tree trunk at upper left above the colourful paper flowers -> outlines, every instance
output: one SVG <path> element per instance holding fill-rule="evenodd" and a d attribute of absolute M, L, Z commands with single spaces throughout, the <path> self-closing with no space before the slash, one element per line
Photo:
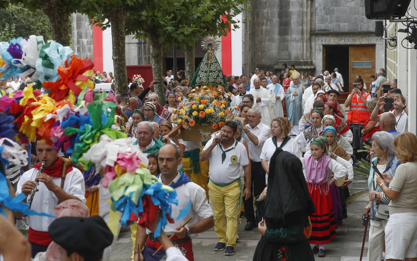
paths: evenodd
<path fill-rule="evenodd" d="M 60 0 L 40 1 L 38 6 L 48 16 L 52 29 L 52 39 L 64 46 L 70 46 L 70 14 L 63 12 L 66 4 Z"/>

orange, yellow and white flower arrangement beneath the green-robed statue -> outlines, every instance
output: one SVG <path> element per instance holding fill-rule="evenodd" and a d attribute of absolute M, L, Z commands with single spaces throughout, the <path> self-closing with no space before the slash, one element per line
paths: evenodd
<path fill-rule="evenodd" d="M 206 86 L 196 87 L 181 100 L 178 108 L 173 109 L 174 122 L 187 130 L 196 124 L 208 124 L 213 129 L 223 127 L 232 115 L 229 110 L 232 94 L 222 94 L 221 90 L 209 92 Z"/>

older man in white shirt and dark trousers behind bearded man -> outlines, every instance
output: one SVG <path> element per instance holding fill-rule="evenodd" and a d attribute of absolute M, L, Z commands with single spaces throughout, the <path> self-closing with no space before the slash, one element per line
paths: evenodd
<path fill-rule="evenodd" d="M 259 196 L 265 188 L 265 171 L 261 164 L 262 147 L 267 138 L 271 136 L 270 128 L 261 122 L 261 110 L 259 108 L 250 108 L 248 110 L 247 124 L 243 130 L 243 138 L 248 143 L 249 158 L 251 159 L 251 194 L 247 200 L 244 199 L 246 226 L 245 230 L 252 230 L 257 227 L 257 221 L 254 211 L 253 197 Z M 253 192 L 253 196 L 252 196 Z M 259 222 L 259 220 L 258 220 Z"/>

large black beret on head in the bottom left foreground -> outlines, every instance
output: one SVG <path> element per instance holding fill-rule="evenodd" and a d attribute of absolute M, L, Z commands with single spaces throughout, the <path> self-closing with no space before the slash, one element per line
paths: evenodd
<path fill-rule="evenodd" d="M 58 218 L 50 224 L 48 232 L 68 254 L 75 252 L 90 260 L 100 259 L 104 248 L 113 241 L 113 233 L 100 216 Z"/>

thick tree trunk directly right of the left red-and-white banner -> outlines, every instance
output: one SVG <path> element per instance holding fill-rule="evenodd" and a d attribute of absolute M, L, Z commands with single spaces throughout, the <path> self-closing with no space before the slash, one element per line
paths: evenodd
<path fill-rule="evenodd" d="M 126 70 L 126 28 L 125 21 L 127 10 L 124 8 L 112 8 L 104 16 L 111 23 L 111 39 L 113 51 L 114 78 L 116 80 L 116 93 L 127 92 L 127 70 Z"/>

